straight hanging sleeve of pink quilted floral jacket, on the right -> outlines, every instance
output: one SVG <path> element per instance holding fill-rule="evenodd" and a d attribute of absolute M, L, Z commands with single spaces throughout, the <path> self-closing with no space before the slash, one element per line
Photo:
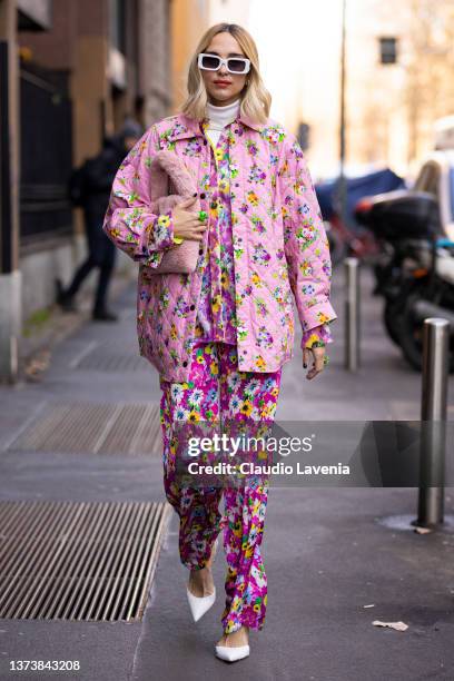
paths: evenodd
<path fill-rule="evenodd" d="M 337 318 L 329 302 L 329 245 L 314 184 L 296 137 L 285 134 L 277 169 L 288 278 L 303 334 Z M 305 345 L 305 334 L 302 347 Z"/>

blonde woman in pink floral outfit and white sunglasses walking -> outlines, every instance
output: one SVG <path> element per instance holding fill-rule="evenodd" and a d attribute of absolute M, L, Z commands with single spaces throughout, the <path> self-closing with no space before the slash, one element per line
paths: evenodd
<path fill-rule="evenodd" d="M 224 490 L 180 485 L 176 424 L 273 422 L 282 367 L 294 352 L 292 294 L 309 379 L 327 363 L 336 314 L 314 185 L 295 136 L 268 117 L 272 98 L 250 34 L 237 24 L 211 27 L 187 85 L 181 110 L 155 122 L 120 166 L 103 229 L 139 263 L 139 346 L 159 372 L 164 483 L 180 519 L 189 606 L 198 620 L 216 600 L 211 561 L 223 532 L 226 603 L 215 652 L 234 661 L 249 654 L 249 629 L 265 621 L 268 486 L 254 478 Z M 159 214 L 150 166 L 161 150 L 189 172 L 197 196 Z M 199 244 L 195 272 L 159 274 L 165 255 L 187 239 Z"/>

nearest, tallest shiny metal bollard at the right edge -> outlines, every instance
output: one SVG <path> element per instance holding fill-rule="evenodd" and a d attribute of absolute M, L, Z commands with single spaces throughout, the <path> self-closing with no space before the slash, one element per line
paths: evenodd
<path fill-rule="evenodd" d="M 423 334 L 420 495 L 413 524 L 433 527 L 443 523 L 444 513 L 450 323 L 427 317 Z"/>

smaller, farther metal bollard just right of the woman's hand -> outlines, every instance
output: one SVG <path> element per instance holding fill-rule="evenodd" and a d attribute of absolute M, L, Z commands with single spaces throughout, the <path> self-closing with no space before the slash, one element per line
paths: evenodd
<path fill-rule="evenodd" d="M 345 368 L 356 372 L 359 367 L 359 261 L 345 258 Z"/>

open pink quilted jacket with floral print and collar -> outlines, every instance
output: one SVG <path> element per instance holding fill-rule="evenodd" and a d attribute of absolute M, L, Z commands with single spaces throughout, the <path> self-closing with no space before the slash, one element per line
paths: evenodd
<path fill-rule="evenodd" d="M 292 294 L 303 332 L 337 318 L 329 303 L 328 240 L 295 136 L 270 118 L 258 124 L 241 114 L 227 135 L 239 371 L 275 372 L 294 352 Z M 150 208 L 156 196 L 149 168 L 159 149 L 178 155 L 209 215 L 211 149 L 201 122 L 177 114 L 154 124 L 122 161 L 103 230 L 139 263 L 140 354 L 162 378 L 186 382 L 208 229 L 195 273 L 152 274 L 165 250 L 178 248 L 171 210 L 159 216 Z"/>

